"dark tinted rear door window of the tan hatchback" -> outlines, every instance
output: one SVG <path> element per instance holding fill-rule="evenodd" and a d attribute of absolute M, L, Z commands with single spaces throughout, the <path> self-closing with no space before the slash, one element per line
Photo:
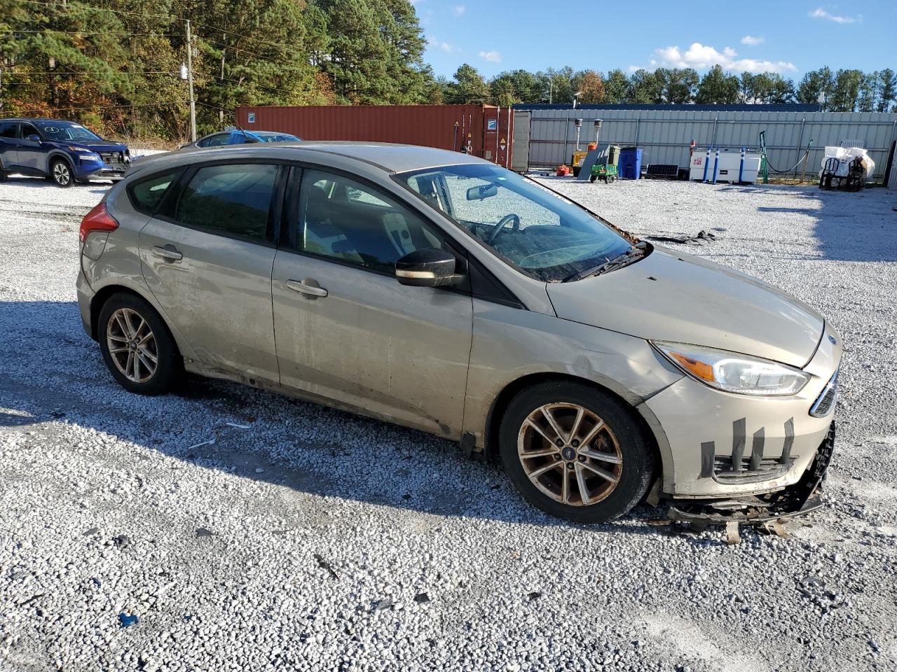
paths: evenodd
<path fill-rule="evenodd" d="M 264 242 L 277 169 L 264 163 L 199 168 L 180 195 L 175 220 L 188 227 Z"/>

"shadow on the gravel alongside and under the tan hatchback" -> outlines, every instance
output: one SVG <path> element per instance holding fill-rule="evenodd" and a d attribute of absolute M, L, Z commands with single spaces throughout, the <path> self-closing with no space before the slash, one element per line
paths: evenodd
<path fill-rule="evenodd" d="M 188 376 L 177 394 L 132 394 L 109 375 L 74 302 L 0 306 L 0 428 L 89 427 L 205 469 L 419 513 L 651 535 L 668 524 L 647 505 L 606 525 L 561 521 L 455 442 L 237 383 Z"/>

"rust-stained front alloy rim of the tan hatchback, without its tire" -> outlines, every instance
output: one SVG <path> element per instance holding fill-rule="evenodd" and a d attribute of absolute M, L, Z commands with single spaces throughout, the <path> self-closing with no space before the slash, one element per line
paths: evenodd
<path fill-rule="evenodd" d="M 533 485 L 561 504 L 597 504 L 614 492 L 623 473 L 613 430 L 578 404 L 535 409 L 520 426 L 517 447 Z"/>

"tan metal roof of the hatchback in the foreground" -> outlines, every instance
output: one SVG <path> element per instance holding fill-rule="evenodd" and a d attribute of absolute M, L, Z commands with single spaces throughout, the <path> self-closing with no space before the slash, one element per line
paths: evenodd
<path fill-rule="evenodd" d="M 478 163 L 492 166 L 490 161 L 478 159 L 459 151 L 438 150 L 420 145 L 393 144 L 390 142 L 346 142 L 305 140 L 300 142 L 248 143 L 215 148 L 196 148 L 157 154 L 143 159 L 145 168 L 167 168 L 182 165 L 185 157 L 190 162 L 204 159 L 309 159 L 309 154 L 321 154 L 363 161 L 390 173 L 404 173 L 409 170 L 455 166 L 457 164 Z M 324 157 L 322 156 L 322 159 Z M 139 166 L 140 164 L 136 164 Z M 135 168 L 136 168 L 135 166 Z"/>

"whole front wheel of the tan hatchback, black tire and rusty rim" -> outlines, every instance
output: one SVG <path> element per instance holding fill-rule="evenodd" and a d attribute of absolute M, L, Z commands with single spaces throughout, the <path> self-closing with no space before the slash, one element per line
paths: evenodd
<path fill-rule="evenodd" d="M 545 407 L 564 434 L 561 448 L 546 440 L 556 439 L 558 434 L 544 415 Z M 580 408 L 583 415 L 575 436 L 586 443 L 569 435 Z M 527 419 L 535 421 L 542 433 Z M 604 425 L 598 425 L 598 420 Z M 552 449 L 556 449 L 552 455 L 526 460 L 518 454 L 520 450 L 546 453 Z M 511 482 L 530 504 L 580 523 L 613 521 L 629 512 L 648 492 L 655 467 L 649 439 L 631 409 L 610 393 L 585 383 L 538 383 L 518 392 L 501 418 L 499 450 Z M 598 454 L 603 457 L 590 457 Z M 539 470 L 543 473 L 536 476 Z M 596 470 L 605 473 L 598 475 Z"/>

